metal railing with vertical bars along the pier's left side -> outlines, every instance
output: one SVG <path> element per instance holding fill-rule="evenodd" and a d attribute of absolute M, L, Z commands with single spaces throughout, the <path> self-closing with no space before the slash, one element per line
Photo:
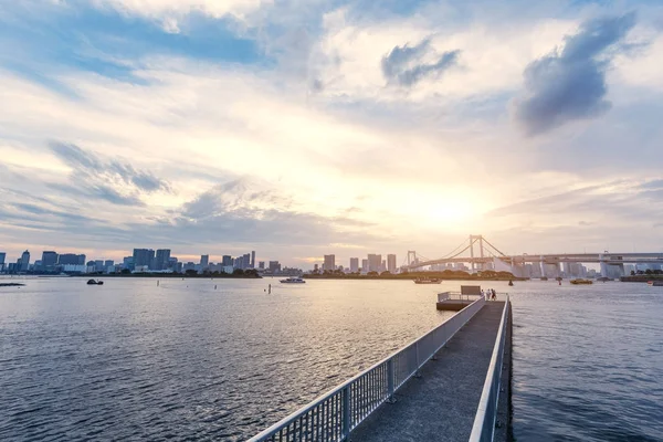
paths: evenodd
<path fill-rule="evenodd" d="M 480 298 L 408 346 L 304 406 L 249 442 L 340 442 L 419 372 L 484 305 Z"/>

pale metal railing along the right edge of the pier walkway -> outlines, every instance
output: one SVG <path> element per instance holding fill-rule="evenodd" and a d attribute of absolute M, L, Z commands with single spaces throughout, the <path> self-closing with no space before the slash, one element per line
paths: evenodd
<path fill-rule="evenodd" d="M 508 323 L 509 299 L 506 295 L 502 320 L 491 357 L 491 365 L 484 382 L 484 388 L 478 401 L 470 442 L 493 441 L 495 434 L 495 420 L 497 418 L 497 406 L 499 401 L 499 387 L 502 381 L 502 366 L 504 361 L 504 347 L 506 343 L 506 325 Z"/>

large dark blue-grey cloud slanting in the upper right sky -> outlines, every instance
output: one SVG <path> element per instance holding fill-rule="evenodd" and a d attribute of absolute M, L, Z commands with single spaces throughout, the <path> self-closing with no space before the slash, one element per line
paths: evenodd
<path fill-rule="evenodd" d="M 565 39 L 561 52 L 532 62 L 524 72 L 525 94 L 514 101 L 515 118 L 525 133 L 541 134 L 610 109 L 606 71 L 634 25 L 634 13 L 590 20 Z"/>

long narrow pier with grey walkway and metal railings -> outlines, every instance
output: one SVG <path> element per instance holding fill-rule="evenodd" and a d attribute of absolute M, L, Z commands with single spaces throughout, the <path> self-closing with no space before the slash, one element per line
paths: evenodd
<path fill-rule="evenodd" d="M 509 441 L 508 295 L 465 301 L 431 332 L 249 442 Z"/>

